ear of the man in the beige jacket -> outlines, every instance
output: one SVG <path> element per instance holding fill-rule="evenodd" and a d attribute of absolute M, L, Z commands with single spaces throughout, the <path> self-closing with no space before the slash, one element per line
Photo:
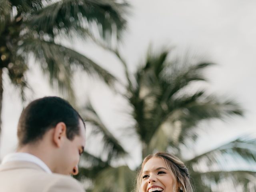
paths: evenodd
<path fill-rule="evenodd" d="M 64 122 L 59 122 L 54 127 L 53 142 L 57 147 L 60 147 L 62 145 L 62 141 L 66 138 L 66 129 L 66 124 Z"/>

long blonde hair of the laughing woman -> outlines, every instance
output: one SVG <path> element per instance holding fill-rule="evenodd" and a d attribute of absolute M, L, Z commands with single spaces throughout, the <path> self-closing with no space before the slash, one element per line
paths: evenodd
<path fill-rule="evenodd" d="M 190 184 L 190 176 L 188 174 L 188 169 L 184 165 L 182 161 L 180 161 L 176 156 L 166 153 L 166 152 L 158 152 L 155 154 L 150 154 L 144 158 L 141 166 L 140 172 L 137 175 L 137 184 L 136 184 L 136 192 L 141 192 L 140 186 L 142 183 L 142 171 L 146 162 L 152 157 L 158 157 L 164 160 L 169 171 L 173 174 L 174 177 L 174 186 L 173 191 L 175 192 L 176 185 L 178 184 L 178 192 L 193 192 L 192 186 Z"/>

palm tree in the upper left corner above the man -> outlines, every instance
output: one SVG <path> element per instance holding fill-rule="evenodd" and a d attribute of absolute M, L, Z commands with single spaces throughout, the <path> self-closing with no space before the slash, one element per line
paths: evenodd
<path fill-rule="evenodd" d="M 1 0 L 0 111 L 4 68 L 24 100 L 29 58 L 35 58 L 50 84 L 68 98 L 74 98 L 72 75 L 76 70 L 98 75 L 111 84 L 114 76 L 60 40 L 92 36 L 110 44 L 120 39 L 126 28 L 127 7 L 115 0 Z"/>

